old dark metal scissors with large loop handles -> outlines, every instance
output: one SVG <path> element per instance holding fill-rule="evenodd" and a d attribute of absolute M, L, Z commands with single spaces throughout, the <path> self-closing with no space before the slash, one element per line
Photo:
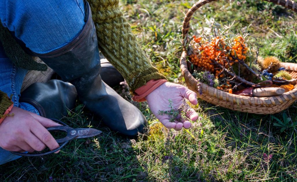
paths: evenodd
<path fill-rule="evenodd" d="M 69 141 L 73 139 L 83 139 L 83 138 L 89 138 L 92 136 L 97 136 L 102 133 L 100 130 L 96 130 L 94 128 L 72 128 L 66 125 L 66 123 L 58 120 L 58 119 L 51 119 L 57 123 L 60 123 L 64 126 L 53 126 L 53 127 L 48 127 L 46 128 L 48 131 L 64 131 L 67 133 L 67 136 L 61 139 L 56 139 L 56 141 L 61 144 L 63 143 L 59 148 L 56 148 L 55 150 L 45 152 L 45 153 L 21 153 L 21 152 L 11 152 L 15 155 L 21 155 L 21 156 L 26 156 L 26 157 L 36 157 L 36 156 L 43 156 L 43 155 L 48 155 L 51 153 L 55 153 L 56 151 L 60 150 L 63 148 Z"/>

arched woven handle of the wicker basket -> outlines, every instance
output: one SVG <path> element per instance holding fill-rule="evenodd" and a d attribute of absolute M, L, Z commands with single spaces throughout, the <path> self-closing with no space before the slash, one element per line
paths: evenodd
<path fill-rule="evenodd" d="M 185 15 L 184 21 L 183 21 L 183 28 L 182 30 L 182 43 L 184 46 L 184 50 L 186 50 L 185 47 L 185 42 L 188 41 L 188 33 L 189 33 L 189 29 L 190 29 L 190 19 L 191 16 L 194 14 L 194 12 L 196 10 L 198 10 L 201 6 L 211 2 L 211 1 L 217 1 L 217 0 L 199 0 L 197 3 L 195 3 L 187 12 L 187 14 Z M 292 0 L 265 0 L 268 2 L 273 2 L 274 4 L 279 4 L 283 7 L 286 7 L 288 9 L 291 9 L 293 11 L 295 11 L 297 13 L 297 9 L 295 9 L 296 3 Z M 186 37 L 186 38 L 185 38 Z"/>

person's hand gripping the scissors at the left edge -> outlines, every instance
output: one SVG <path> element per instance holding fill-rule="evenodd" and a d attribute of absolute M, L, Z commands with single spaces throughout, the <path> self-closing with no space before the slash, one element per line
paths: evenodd
<path fill-rule="evenodd" d="M 46 127 L 60 124 L 18 107 L 13 107 L 9 114 L 0 124 L 1 148 L 14 152 L 34 152 L 42 151 L 46 146 L 50 150 L 59 147 Z"/>

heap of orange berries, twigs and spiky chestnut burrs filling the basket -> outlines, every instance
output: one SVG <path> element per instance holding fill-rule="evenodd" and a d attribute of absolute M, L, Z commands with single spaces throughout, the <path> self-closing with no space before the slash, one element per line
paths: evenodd
<path fill-rule="evenodd" d="M 193 35 L 188 46 L 189 62 L 191 70 L 194 70 L 192 76 L 202 83 L 229 93 L 235 89 L 259 86 L 266 80 L 271 80 L 276 86 L 297 82 L 297 79 L 290 78 L 290 73 L 285 68 L 280 67 L 276 57 L 266 57 L 263 63 L 263 58 L 258 56 L 259 47 L 257 50 L 250 50 L 243 37 L 230 37 L 216 32 L 212 38 Z M 216 87 L 214 82 L 209 81 L 212 77 L 217 79 L 219 86 Z"/>

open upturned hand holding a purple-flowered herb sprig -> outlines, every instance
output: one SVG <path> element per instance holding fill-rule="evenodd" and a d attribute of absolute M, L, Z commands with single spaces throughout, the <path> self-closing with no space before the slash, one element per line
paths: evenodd
<path fill-rule="evenodd" d="M 188 99 L 192 104 L 197 105 L 197 94 L 188 88 L 178 85 L 175 83 L 166 82 L 152 91 L 149 95 L 146 96 L 146 100 L 149 104 L 149 108 L 152 113 L 159 119 L 159 121 L 167 128 L 174 128 L 175 130 L 181 130 L 184 128 L 190 128 L 191 122 L 170 122 L 168 115 L 159 115 L 158 111 L 169 111 L 171 110 L 169 106 L 168 99 L 171 99 L 173 108 L 178 108 L 182 104 L 182 99 Z M 192 121 L 198 119 L 198 114 L 194 109 L 190 109 L 187 112 L 187 117 Z"/>

